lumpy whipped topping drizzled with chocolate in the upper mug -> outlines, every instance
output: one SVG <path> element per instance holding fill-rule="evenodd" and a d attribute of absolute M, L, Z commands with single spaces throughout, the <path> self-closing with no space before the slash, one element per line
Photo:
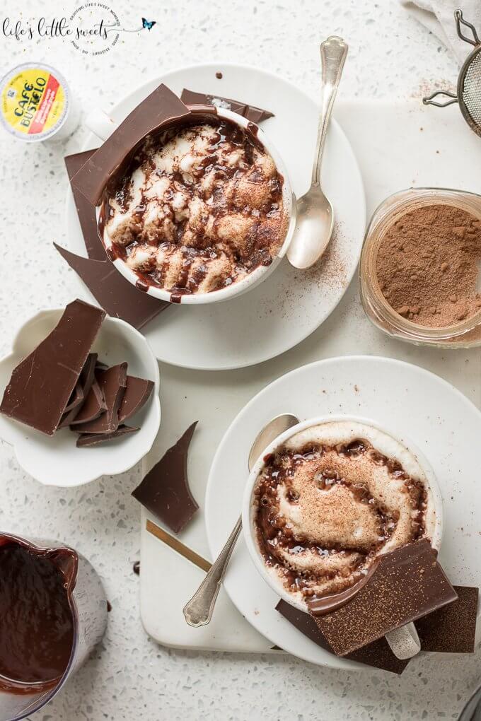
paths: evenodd
<path fill-rule="evenodd" d="M 148 285 L 208 293 L 273 261 L 282 190 L 255 134 L 212 118 L 146 139 L 107 190 L 105 233 Z"/>

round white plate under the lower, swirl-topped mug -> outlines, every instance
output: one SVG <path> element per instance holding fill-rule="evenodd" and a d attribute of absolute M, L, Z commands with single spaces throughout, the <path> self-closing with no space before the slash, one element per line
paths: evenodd
<path fill-rule="evenodd" d="M 481 412 L 433 373 L 375 356 L 329 358 L 298 368 L 263 389 L 239 413 L 208 479 L 205 513 L 213 558 L 239 516 L 252 441 L 270 418 L 285 412 L 300 420 L 340 413 L 363 416 L 407 445 L 412 439 L 433 467 L 444 500 L 441 564 L 451 583 L 481 585 Z M 323 650 L 275 611 L 278 596 L 260 577 L 242 537 L 224 586 L 242 616 L 288 653 L 335 668 L 369 668 Z"/>

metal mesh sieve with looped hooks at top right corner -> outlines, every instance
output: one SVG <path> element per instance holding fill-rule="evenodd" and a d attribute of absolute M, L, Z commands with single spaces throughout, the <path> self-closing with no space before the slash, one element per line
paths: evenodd
<path fill-rule="evenodd" d="M 473 45 L 475 50 L 472 51 L 461 68 L 457 93 L 438 90 L 429 97 L 423 98 L 423 103 L 425 105 L 436 105 L 436 107 L 446 107 L 446 105 L 458 102 L 464 120 L 466 120 L 472 131 L 481 136 L 481 40 L 477 35 L 475 26 L 464 20 L 461 10 L 456 10 L 454 17 L 459 37 L 465 43 Z M 469 28 L 472 37 L 464 35 L 464 27 Z M 440 96 L 447 99 L 444 102 L 435 100 L 436 97 Z"/>

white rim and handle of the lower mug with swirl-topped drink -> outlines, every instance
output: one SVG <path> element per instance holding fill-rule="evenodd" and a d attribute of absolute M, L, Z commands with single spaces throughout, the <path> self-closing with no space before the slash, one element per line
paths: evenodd
<path fill-rule="evenodd" d="M 367 420 L 366 418 L 362 417 L 338 415 L 321 416 L 305 420 L 302 423 L 299 423 L 299 425 L 295 425 L 294 428 L 289 428 L 289 430 L 286 430 L 285 433 L 279 435 L 278 438 L 275 438 L 275 441 L 273 441 L 273 443 L 270 443 L 270 445 L 265 448 L 262 456 L 260 457 L 260 459 L 257 460 L 255 466 L 253 466 L 252 471 L 250 472 L 250 476 L 247 480 L 247 484 L 244 490 L 244 498 L 242 501 L 242 531 L 244 533 L 244 539 L 247 545 L 247 549 L 249 550 L 250 557 L 252 558 L 252 561 L 254 562 L 257 571 L 278 596 L 281 596 L 284 601 L 290 603 L 291 606 L 299 609 L 299 611 L 304 612 L 308 610 L 305 601 L 300 601 L 297 598 L 294 598 L 294 596 L 289 593 L 288 590 L 286 590 L 281 579 L 278 578 L 277 575 L 270 574 L 268 572 L 268 568 L 265 565 L 265 560 L 262 557 L 260 549 L 257 546 L 257 541 L 255 539 L 255 506 L 253 504 L 253 494 L 255 482 L 257 481 L 257 477 L 262 469 L 262 466 L 264 465 L 265 456 L 275 453 L 275 451 L 277 451 L 278 448 L 283 446 L 283 444 L 286 443 L 289 438 L 292 438 L 300 431 L 306 430 L 306 428 L 312 428 L 316 425 L 332 423 L 335 421 L 352 421 L 355 423 L 361 423 L 362 425 L 370 426 L 371 428 L 380 430 L 382 431 L 382 433 L 391 436 L 392 438 L 394 438 L 394 440 L 397 441 L 396 435 L 394 433 L 391 433 L 386 428 L 382 428 L 380 425 L 374 423 L 373 421 Z M 401 443 L 400 441 L 397 442 Z M 425 456 L 423 456 L 421 451 L 419 451 L 418 448 L 414 446 L 414 444 L 409 442 L 409 446 L 407 446 L 406 443 L 401 443 L 401 445 L 405 448 L 408 448 L 411 454 L 415 456 L 415 459 L 418 461 L 418 465 L 420 466 L 421 472 L 423 472 L 423 475 L 428 481 L 428 515 L 426 519 L 427 535 L 431 540 L 431 546 L 438 551 L 441 546 L 441 536 L 443 531 L 443 507 L 441 491 L 439 490 L 436 476 L 433 472 L 433 469 L 431 468 L 431 465 L 425 459 Z M 415 655 L 420 650 L 418 633 L 416 632 L 414 624 L 406 624 L 400 629 L 394 629 L 394 631 L 387 634 L 386 639 L 392 649 L 392 652 L 397 656 L 397 658 L 411 658 L 412 655 Z"/>

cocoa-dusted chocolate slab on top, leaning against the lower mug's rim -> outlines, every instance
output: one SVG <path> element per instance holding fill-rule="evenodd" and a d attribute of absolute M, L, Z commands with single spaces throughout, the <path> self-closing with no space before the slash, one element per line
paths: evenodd
<path fill-rule="evenodd" d="M 421 539 L 381 554 L 367 583 L 335 610 L 315 600 L 307 606 L 334 653 L 345 656 L 456 598 L 431 542 Z"/>

